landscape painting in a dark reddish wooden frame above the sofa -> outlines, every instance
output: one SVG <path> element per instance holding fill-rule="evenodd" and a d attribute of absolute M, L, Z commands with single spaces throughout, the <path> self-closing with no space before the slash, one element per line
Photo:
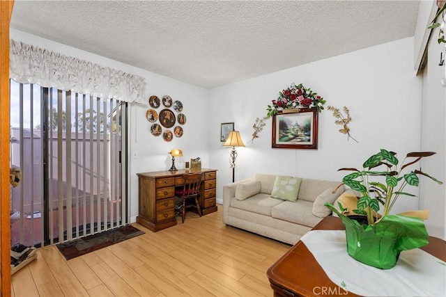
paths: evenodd
<path fill-rule="evenodd" d="M 274 115 L 271 147 L 317 150 L 317 108 L 289 109 Z"/>

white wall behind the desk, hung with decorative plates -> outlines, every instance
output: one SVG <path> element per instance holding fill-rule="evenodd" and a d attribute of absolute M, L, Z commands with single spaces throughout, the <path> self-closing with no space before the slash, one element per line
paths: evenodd
<path fill-rule="evenodd" d="M 146 79 L 146 96 L 157 95 L 162 97 L 169 95 L 174 100 L 183 103 L 183 113 L 186 115 L 186 123 L 183 125 L 184 134 L 167 143 L 162 136 L 153 136 L 150 132 L 151 123 L 146 120 L 148 104 L 132 104 L 130 106 L 130 164 L 128 167 L 130 179 L 130 216 L 136 220 L 138 213 L 138 172 L 167 170 L 171 166 L 171 158 L 167 154 L 171 149 L 183 150 L 183 157 L 176 158 L 177 168 L 183 168 L 184 161 L 197 156 L 201 157 L 203 167 L 209 166 L 208 134 L 210 133 L 209 122 L 209 91 L 188 83 L 176 81 L 163 77 L 153 72 L 141 70 L 103 56 L 91 54 L 74 47 L 62 45 L 51 40 L 40 38 L 36 35 L 10 30 L 10 38 L 22 41 L 30 45 L 37 45 L 45 49 L 75 56 L 86 61 L 91 61 L 105 67 L 112 67 L 131 74 L 137 74 Z M 158 108 L 157 111 L 161 111 Z M 136 154 L 136 156 L 134 156 Z"/>

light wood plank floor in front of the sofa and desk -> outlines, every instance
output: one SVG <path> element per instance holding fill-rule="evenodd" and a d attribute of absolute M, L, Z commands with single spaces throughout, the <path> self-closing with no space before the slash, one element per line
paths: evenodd
<path fill-rule="evenodd" d="M 69 261 L 40 248 L 13 296 L 272 296 L 266 271 L 291 246 L 224 225 L 218 209 L 155 233 L 134 223 L 146 234 Z"/>

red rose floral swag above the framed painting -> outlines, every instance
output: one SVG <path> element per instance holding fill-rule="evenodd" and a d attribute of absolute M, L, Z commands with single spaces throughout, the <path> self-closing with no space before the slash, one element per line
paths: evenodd
<path fill-rule="evenodd" d="M 272 100 L 272 105 L 268 105 L 266 117 L 270 118 L 277 114 L 278 111 L 284 109 L 316 107 L 318 112 L 321 112 L 323 110 L 323 104 L 325 104 L 323 97 L 312 91 L 311 88 L 305 88 L 302 83 L 298 86 L 295 83 L 291 83 L 289 88 L 279 92 L 277 99 Z"/>

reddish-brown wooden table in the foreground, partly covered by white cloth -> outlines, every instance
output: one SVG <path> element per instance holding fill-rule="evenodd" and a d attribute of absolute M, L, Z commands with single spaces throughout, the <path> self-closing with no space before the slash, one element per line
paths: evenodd
<path fill-rule="evenodd" d="M 344 225 L 341 219 L 328 216 L 313 230 L 344 230 Z M 446 241 L 442 239 L 429 236 L 429 244 L 421 249 L 446 261 Z M 322 296 L 323 288 L 339 296 L 357 296 L 334 284 L 302 241 L 273 264 L 266 274 L 276 297 Z"/>

